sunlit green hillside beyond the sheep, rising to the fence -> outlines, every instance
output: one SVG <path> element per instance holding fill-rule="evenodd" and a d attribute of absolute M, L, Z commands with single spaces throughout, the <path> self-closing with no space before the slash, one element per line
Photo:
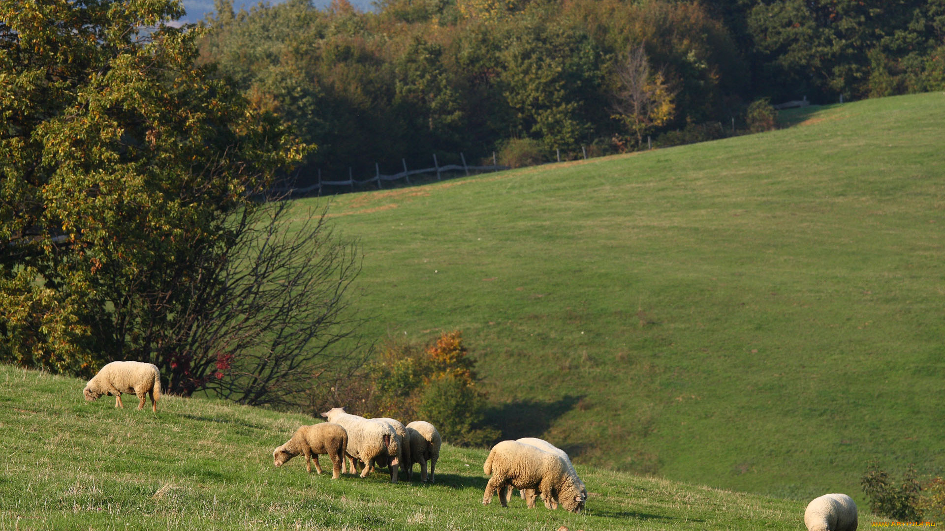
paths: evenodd
<path fill-rule="evenodd" d="M 332 198 L 365 332 L 462 330 L 490 418 L 577 463 L 860 503 L 871 458 L 940 473 L 945 95 L 786 117 Z"/>

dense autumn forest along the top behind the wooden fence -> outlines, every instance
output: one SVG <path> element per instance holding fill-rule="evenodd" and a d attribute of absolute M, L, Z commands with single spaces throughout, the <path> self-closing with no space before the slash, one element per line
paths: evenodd
<path fill-rule="evenodd" d="M 945 0 L 217 0 L 201 60 L 318 146 L 301 179 L 717 135 L 747 107 L 945 86 Z M 708 127 L 712 125 L 713 127 Z M 667 142 L 680 138 L 666 136 Z M 414 163 L 411 163 L 413 165 Z"/>

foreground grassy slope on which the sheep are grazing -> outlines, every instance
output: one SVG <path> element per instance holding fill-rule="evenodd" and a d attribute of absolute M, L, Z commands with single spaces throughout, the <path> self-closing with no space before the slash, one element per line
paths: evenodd
<path fill-rule="evenodd" d="M 83 385 L 0 366 L 0 529 L 803 529 L 803 502 L 580 465 L 585 514 L 483 506 L 486 452 L 449 445 L 435 485 L 382 472 L 333 481 L 300 457 L 272 466 L 305 416 L 176 397 L 152 415 L 85 403 Z"/>

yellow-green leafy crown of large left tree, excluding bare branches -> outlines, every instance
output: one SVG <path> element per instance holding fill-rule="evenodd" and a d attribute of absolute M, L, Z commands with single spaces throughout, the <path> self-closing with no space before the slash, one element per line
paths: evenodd
<path fill-rule="evenodd" d="M 196 64 L 200 31 L 165 24 L 181 14 L 170 0 L 0 0 L 4 361 L 173 372 L 204 324 L 181 322 L 189 297 L 223 282 L 208 274 L 237 247 L 232 215 L 307 149 Z"/>

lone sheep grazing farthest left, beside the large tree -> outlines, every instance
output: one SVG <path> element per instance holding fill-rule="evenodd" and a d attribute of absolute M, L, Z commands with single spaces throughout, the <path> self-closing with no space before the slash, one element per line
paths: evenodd
<path fill-rule="evenodd" d="M 158 412 L 161 399 L 161 371 L 156 365 L 139 361 L 113 361 L 101 368 L 82 389 L 87 402 L 102 395 L 114 395 L 115 407 L 124 408 L 122 393 L 138 396 L 138 410 L 145 407 L 146 395 L 151 396 L 151 410 Z"/>

